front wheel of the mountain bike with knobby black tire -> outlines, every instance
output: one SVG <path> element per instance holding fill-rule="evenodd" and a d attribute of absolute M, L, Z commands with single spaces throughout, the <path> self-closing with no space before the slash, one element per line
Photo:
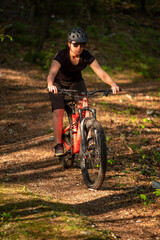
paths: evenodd
<path fill-rule="evenodd" d="M 103 184 L 107 168 L 107 146 L 103 127 L 96 119 L 91 118 L 84 123 L 86 152 L 82 141 L 80 150 L 80 166 L 82 176 L 88 188 L 99 189 Z M 94 141 L 92 148 L 88 146 L 87 136 L 91 131 Z"/>

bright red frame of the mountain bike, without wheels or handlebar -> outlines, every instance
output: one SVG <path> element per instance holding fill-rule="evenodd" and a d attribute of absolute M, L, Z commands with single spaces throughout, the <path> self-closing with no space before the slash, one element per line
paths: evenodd
<path fill-rule="evenodd" d="M 80 103 L 79 108 L 83 109 L 83 107 L 88 107 L 88 99 L 84 97 Z M 83 118 L 86 116 L 86 110 L 84 109 L 82 113 Z M 80 151 L 80 142 L 81 142 L 81 134 L 80 134 L 80 117 L 79 112 L 75 113 L 75 107 L 72 109 L 72 124 L 68 125 L 62 132 L 62 135 L 72 129 L 72 136 L 73 136 L 73 142 L 72 146 L 68 145 L 63 139 L 62 143 L 66 147 L 66 149 L 72 150 L 72 154 L 78 153 Z M 71 149 L 72 148 L 72 149 Z"/>

